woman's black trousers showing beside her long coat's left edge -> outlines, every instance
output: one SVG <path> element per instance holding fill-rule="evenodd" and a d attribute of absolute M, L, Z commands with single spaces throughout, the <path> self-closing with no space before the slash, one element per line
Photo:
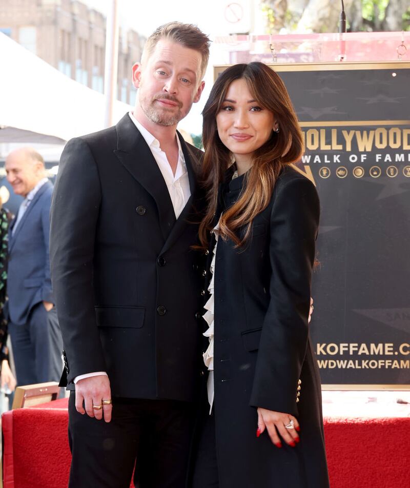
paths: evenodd
<path fill-rule="evenodd" d="M 215 417 L 213 411 L 209 415 L 208 400 L 202 401 L 195 431 L 188 488 L 219 488 Z"/>

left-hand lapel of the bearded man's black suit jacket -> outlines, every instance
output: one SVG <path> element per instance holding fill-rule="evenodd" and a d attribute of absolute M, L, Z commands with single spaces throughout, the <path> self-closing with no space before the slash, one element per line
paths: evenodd
<path fill-rule="evenodd" d="M 175 212 L 165 180 L 144 137 L 126 114 L 116 125 L 115 155 L 130 174 L 154 198 L 164 241 L 175 224 Z"/>

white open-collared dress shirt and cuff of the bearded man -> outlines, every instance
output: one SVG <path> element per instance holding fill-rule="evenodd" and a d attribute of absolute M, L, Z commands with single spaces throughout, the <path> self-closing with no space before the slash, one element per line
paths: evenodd
<path fill-rule="evenodd" d="M 139 130 L 142 137 L 144 137 L 148 144 L 158 168 L 161 171 L 162 177 L 168 188 L 168 192 L 171 197 L 172 206 L 174 207 L 175 218 L 178 218 L 183 208 L 187 205 L 187 201 L 191 196 L 191 190 L 189 188 L 188 170 L 185 163 L 185 157 L 182 152 L 181 143 L 179 137 L 175 134 L 178 144 L 178 163 L 176 166 L 175 175 L 172 172 L 171 165 L 169 164 L 167 155 L 162 151 L 159 140 L 156 139 L 148 130 L 142 126 L 138 120 L 134 117 L 132 112 L 129 112 L 129 116 L 133 121 L 135 127 Z M 98 371 L 96 373 L 88 373 L 85 375 L 79 375 L 74 378 L 74 384 L 80 379 L 91 378 L 92 376 L 108 376 L 105 371 Z"/>

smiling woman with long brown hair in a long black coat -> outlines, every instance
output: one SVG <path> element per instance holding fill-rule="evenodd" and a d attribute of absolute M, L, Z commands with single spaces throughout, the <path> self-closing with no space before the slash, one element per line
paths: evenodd
<path fill-rule="evenodd" d="M 194 488 L 328 488 L 308 317 L 319 199 L 291 163 L 302 135 L 262 63 L 235 65 L 203 111 L 208 402 Z"/>

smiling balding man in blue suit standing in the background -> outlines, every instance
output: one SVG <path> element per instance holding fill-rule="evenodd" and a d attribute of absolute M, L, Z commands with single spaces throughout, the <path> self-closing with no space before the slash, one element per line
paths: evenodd
<path fill-rule="evenodd" d="M 9 299 L 5 307 L 17 384 L 58 381 L 63 341 L 50 278 L 53 186 L 42 156 L 33 149 L 11 152 L 5 166 L 14 193 L 24 197 L 9 229 Z"/>

